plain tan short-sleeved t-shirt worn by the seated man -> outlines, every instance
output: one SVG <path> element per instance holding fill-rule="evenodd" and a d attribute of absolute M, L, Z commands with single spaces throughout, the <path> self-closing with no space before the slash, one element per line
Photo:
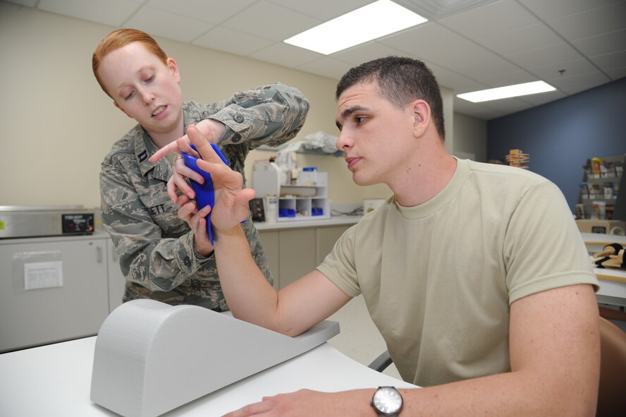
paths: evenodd
<path fill-rule="evenodd" d="M 423 387 L 510 370 L 510 303 L 598 284 L 553 183 L 468 160 L 428 202 L 367 214 L 317 269 L 363 294 L 400 375 Z"/>

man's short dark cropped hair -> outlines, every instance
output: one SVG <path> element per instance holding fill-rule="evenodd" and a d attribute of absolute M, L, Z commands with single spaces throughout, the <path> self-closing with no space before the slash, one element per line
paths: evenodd
<path fill-rule="evenodd" d="M 335 99 L 339 99 L 352 85 L 376 81 L 381 95 L 393 104 L 403 107 L 423 99 L 431 107 L 437 133 L 446 138 L 443 126 L 443 99 L 432 71 L 419 59 L 386 56 L 350 69 L 337 84 Z"/>

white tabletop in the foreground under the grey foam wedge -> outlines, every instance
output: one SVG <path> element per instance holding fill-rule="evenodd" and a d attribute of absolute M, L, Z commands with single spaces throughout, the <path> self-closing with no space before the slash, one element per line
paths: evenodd
<path fill-rule="evenodd" d="M 96 337 L 87 337 L 1 354 L 0 416 L 116 416 L 90 401 L 95 341 Z M 379 385 L 415 387 L 369 369 L 324 343 L 164 416 L 222 416 L 264 396 L 301 388 L 336 392 Z"/>

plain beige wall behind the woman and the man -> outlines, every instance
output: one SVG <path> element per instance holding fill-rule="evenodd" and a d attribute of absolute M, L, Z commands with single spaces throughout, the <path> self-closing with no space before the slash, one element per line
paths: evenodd
<path fill-rule="evenodd" d="M 91 55 L 114 28 L 0 1 L 0 205 L 99 205 L 98 174 L 111 145 L 134 126 L 113 107 L 93 77 Z M 280 81 L 299 88 L 312 106 L 295 140 L 337 134 L 336 80 L 262 61 L 157 38 L 178 61 L 185 100 L 215 102 L 232 92 Z M 444 90 L 446 130 L 453 133 L 452 95 Z M 251 152 L 252 161 L 271 152 Z M 333 203 L 391 194 L 359 187 L 340 157 L 299 155 L 303 166 L 328 171 Z"/>

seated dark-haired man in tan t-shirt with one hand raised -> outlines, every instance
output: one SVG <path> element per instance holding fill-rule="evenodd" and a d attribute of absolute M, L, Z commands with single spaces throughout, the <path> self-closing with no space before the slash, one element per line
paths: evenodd
<path fill-rule="evenodd" d="M 381 392 L 401 395 L 399 414 L 374 409 L 372 387 L 301 390 L 228 416 L 593 416 L 597 282 L 558 188 L 522 169 L 450 156 L 441 93 L 421 61 L 352 68 L 337 99 L 337 147 L 353 180 L 385 183 L 393 197 L 280 291 L 254 264 L 240 226 L 254 191 L 189 128 L 216 186 L 211 224 L 223 292 L 235 317 L 290 336 L 362 294 L 401 375 L 424 388 Z M 209 209 L 186 198 L 179 207 L 206 234 Z M 211 248 L 204 241 L 200 254 Z"/>

